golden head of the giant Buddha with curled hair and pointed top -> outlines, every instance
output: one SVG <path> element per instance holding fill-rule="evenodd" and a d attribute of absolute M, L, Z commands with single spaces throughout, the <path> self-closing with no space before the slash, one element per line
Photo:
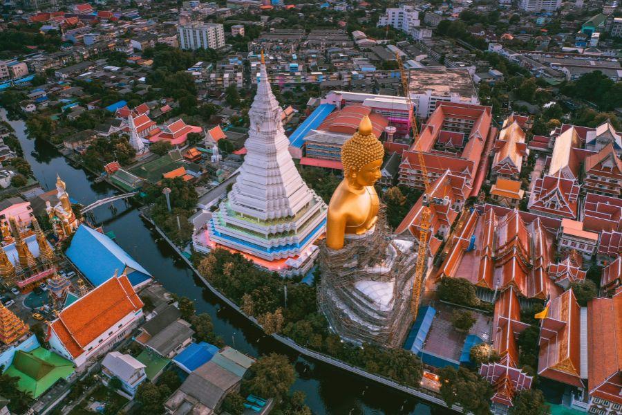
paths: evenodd
<path fill-rule="evenodd" d="M 352 187 L 373 186 L 381 177 L 383 158 L 384 147 L 373 133 L 371 120 L 364 116 L 359 131 L 341 147 L 343 175 Z"/>

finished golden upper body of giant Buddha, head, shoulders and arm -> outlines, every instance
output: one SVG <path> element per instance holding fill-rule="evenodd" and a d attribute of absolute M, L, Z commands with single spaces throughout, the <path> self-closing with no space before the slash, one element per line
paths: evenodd
<path fill-rule="evenodd" d="M 373 232 L 380 205 L 374 184 L 381 177 L 383 158 L 384 147 L 364 116 L 359 131 L 341 147 L 344 177 L 328 204 L 328 248 L 339 250 L 348 236 Z"/>

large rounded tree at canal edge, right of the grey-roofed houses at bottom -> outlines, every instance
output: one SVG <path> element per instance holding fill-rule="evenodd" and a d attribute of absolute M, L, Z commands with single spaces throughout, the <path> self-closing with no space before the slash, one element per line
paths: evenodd
<path fill-rule="evenodd" d="M 261 398 L 282 398 L 294 385 L 296 373 L 287 356 L 271 353 L 256 360 L 242 381 L 243 390 Z"/>

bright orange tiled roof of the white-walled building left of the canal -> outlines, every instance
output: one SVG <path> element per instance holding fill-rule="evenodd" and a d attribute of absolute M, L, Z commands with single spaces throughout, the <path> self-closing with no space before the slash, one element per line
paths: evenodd
<path fill-rule="evenodd" d="M 84 353 L 86 345 L 142 306 L 125 275 L 112 277 L 64 308 L 50 328 L 71 356 L 77 358 Z"/>

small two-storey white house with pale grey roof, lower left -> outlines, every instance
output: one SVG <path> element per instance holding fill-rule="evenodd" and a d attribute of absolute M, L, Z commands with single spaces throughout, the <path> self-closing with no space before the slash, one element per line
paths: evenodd
<path fill-rule="evenodd" d="M 129 354 L 111 351 L 102 361 L 102 380 L 104 385 L 109 385 L 111 379 L 117 378 L 121 382 L 122 391 L 133 398 L 138 386 L 147 380 L 145 367 Z"/>

